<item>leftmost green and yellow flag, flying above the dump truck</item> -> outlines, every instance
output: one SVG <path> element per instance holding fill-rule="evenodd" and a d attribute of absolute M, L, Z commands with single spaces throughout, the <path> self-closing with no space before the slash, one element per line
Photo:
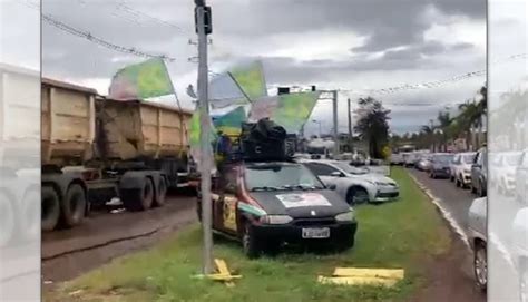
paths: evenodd
<path fill-rule="evenodd" d="M 173 82 L 160 58 L 119 69 L 111 79 L 108 97 L 119 100 L 147 99 L 174 94 Z"/>

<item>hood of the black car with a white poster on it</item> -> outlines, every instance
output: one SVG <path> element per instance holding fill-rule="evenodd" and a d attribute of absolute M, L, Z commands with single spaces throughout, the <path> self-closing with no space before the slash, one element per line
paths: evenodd
<path fill-rule="evenodd" d="M 268 215 L 327 217 L 350 211 L 345 201 L 330 189 L 251 192 L 250 195 Z"/>

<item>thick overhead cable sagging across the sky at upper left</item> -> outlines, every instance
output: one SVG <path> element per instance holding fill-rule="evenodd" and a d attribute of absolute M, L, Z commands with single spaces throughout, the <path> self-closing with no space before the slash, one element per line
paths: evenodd
<path fill-rule="evenodd" d="M 130 55 L 134 55 L 134 56 L 138 56 L 138 57 L 145 57 L 145 58 L 160 58 L 163 60 L 167 60 L 167 61 L 174 61 L 176 60 L 175 58 L 173 57 L 168 57 L 166 55 L 154 55 L 154 53 L 149 53 L 149 52 L 146 52 L 146 51 L 143 51 L 143 50 L 139 50 L 139 49 L 136 49 L 134 47 L 131 48 L 127 48 L 127 47 L 124 47 L 124 46 L 119 46 L 119 45 L 115 45 L 113 42 L 109 42 L 109 41 L 106 41 L 101 38 L 98 38 L 96 36 L 92 36 L 89 31 L 82 31 L 82 30 L 79 30 L 79 29 L 76 29 L 71 26 L 68 26 L 59 20 L 56 20 L 53 18 L 51 18 L 50 16 L 48 14 L 45 14 L 42 13 L 42 20 L 65 32 L 68 32 L 70 35 L 74 35 L 76 37 L 79 37 L 79 38 L 84 38 L 84 39 L 87 39 L 88 41 L 90 42 L 94 42 L 94 43 L 97 43 L 99 46 L 102 46 L 105 48 L 108 48 L 108 49 L 111 49 L 111 50 L 115 50 L 115 51 L 119 51 L 119 52 L 124 52 L 124 53 L 130 53 Z"/>

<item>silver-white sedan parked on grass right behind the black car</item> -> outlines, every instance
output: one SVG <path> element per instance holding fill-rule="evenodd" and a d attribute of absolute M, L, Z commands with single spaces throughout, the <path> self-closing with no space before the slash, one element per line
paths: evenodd
<path fill-rule="evenodd" d="M 335 192 L 350 205 L 389 202 L 400 195 L 400 188 L 392 178 L 353 167 L 346 162 L 306 160 L 303 164 L 325 185 L 335 185 Z"/>

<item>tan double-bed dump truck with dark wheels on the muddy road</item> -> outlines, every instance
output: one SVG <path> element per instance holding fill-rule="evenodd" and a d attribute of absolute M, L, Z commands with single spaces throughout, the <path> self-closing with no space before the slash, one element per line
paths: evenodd
<path fill-rule="evenodd" d="M 188 173 L 192 111 L 115 100 L 52 79 L 41 86 L 42 230 L 80 224 L 119 198 L 127 211 L 163 206 Z"/>

